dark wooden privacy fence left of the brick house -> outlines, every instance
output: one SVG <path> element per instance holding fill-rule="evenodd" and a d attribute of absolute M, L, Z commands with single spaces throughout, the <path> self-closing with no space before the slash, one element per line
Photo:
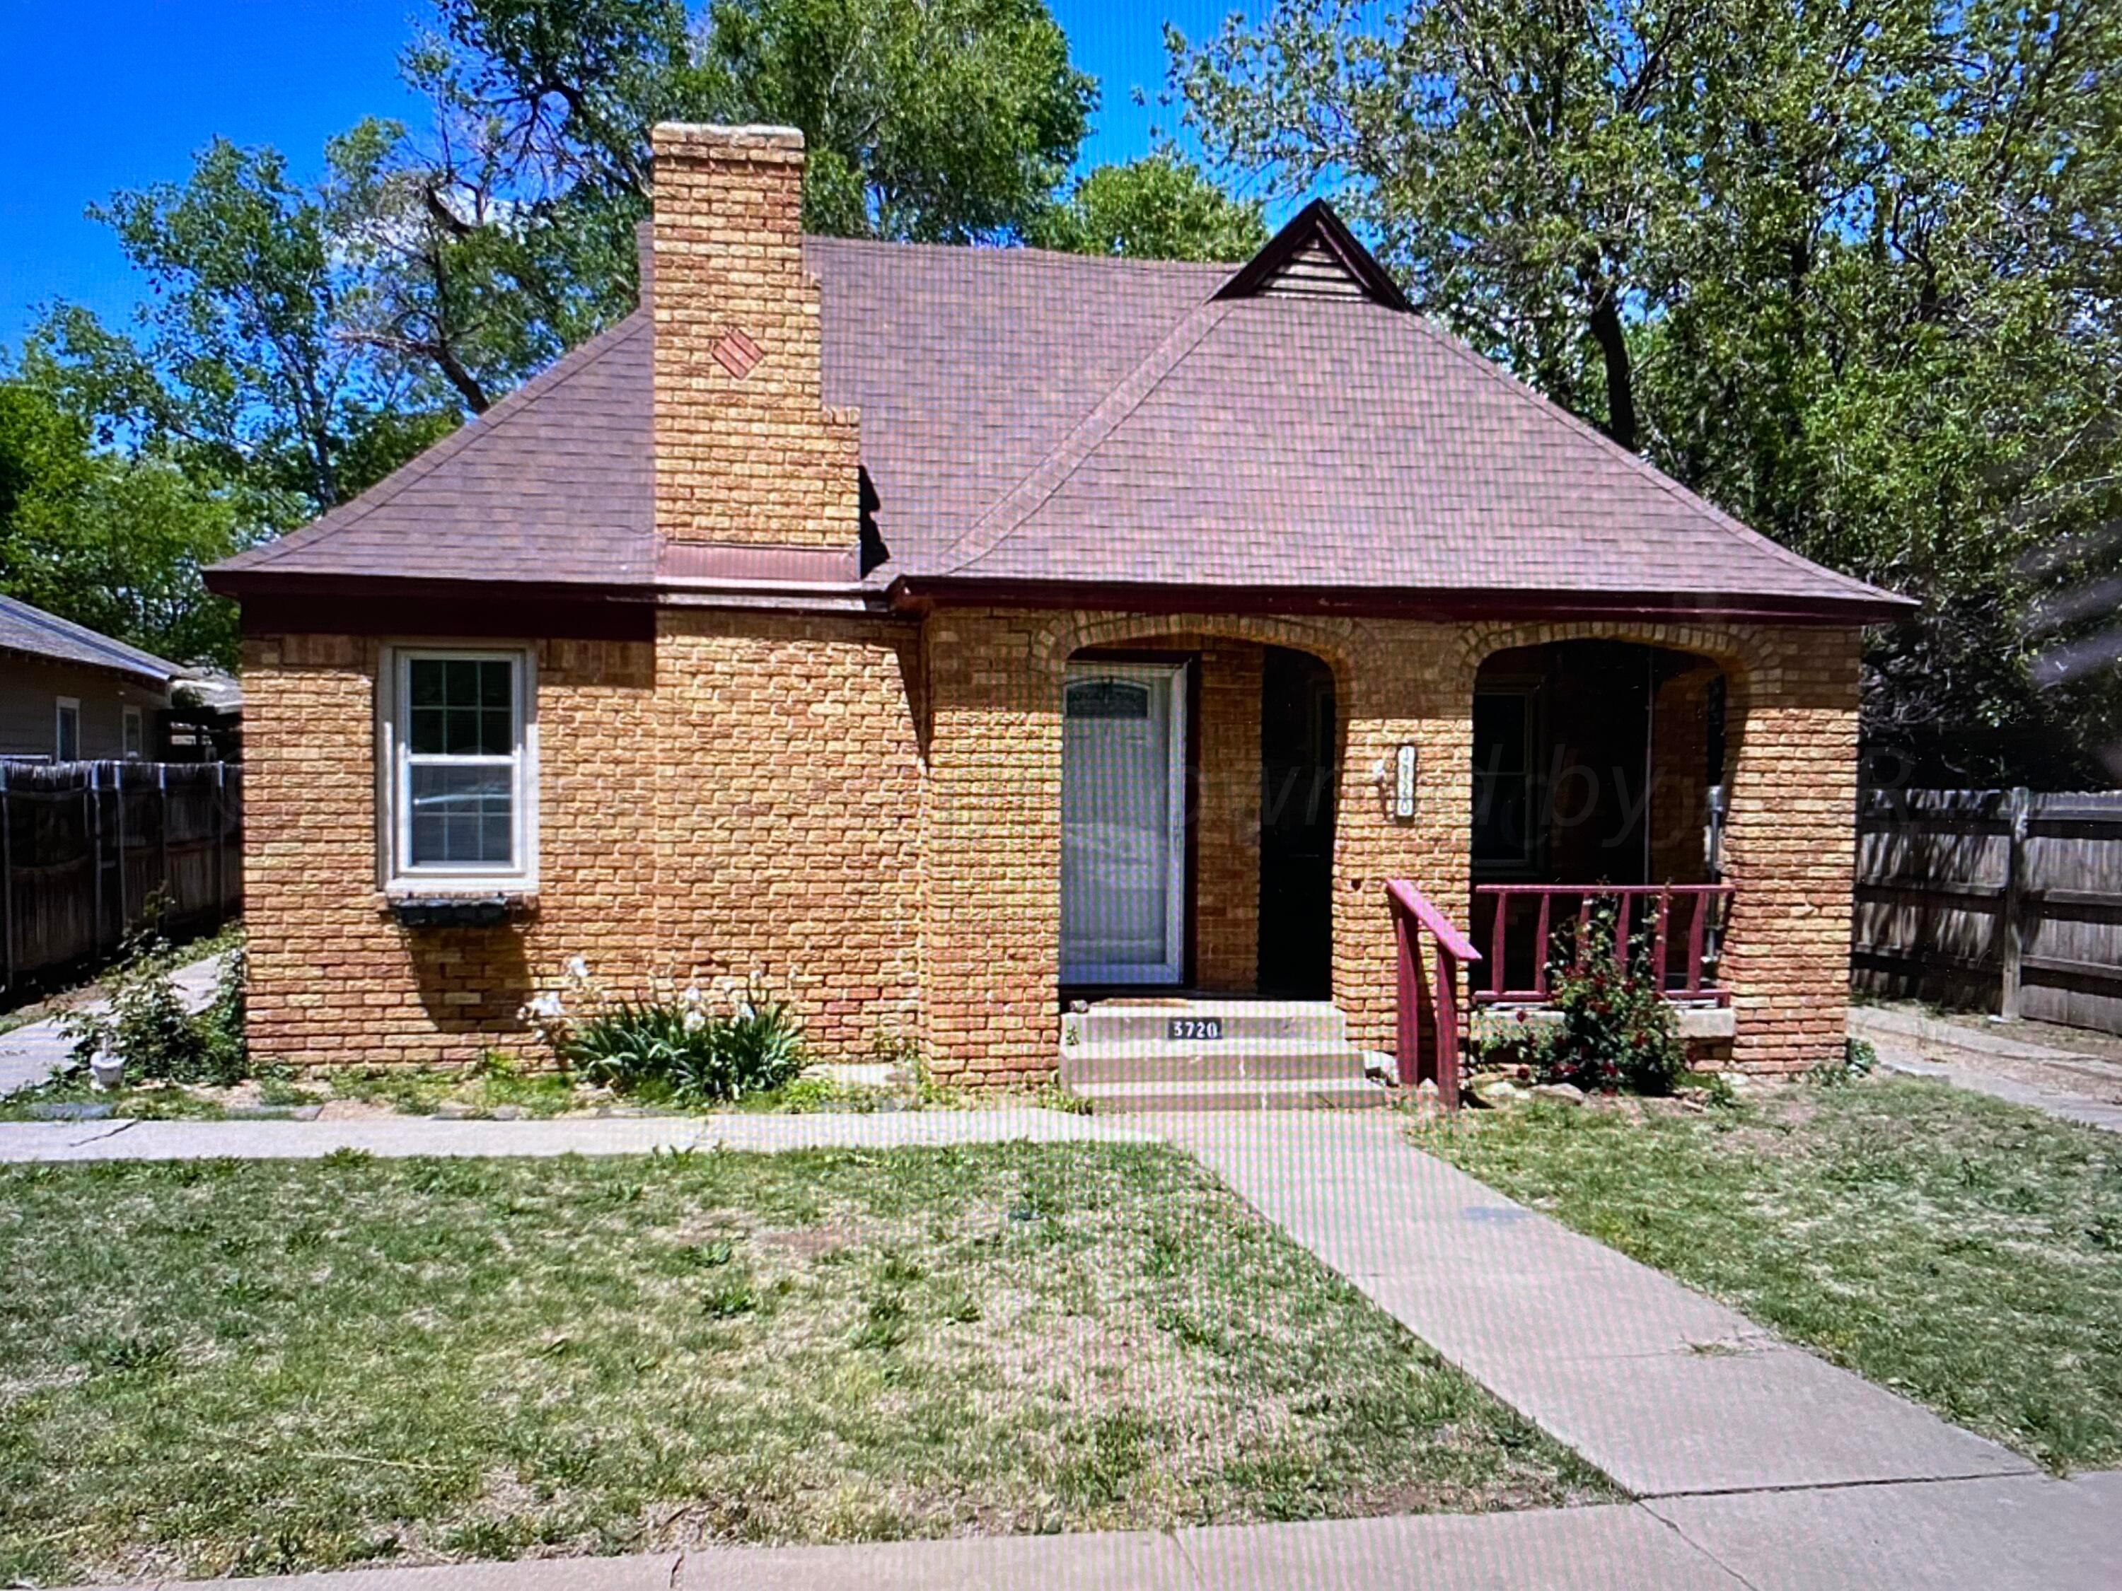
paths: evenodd
<path fill-rule="evenodd" d="M 0 759 L 6 993 L 108 957 L 157 906 L 172 933 L 238 914 L 242 815 L 238 764 Z"/>

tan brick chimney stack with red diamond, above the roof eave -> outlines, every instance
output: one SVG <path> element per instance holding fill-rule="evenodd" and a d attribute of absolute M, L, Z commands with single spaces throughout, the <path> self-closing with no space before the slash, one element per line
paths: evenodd
<path fill-rule="evenodd" d="M 859 541 L 855 409 L 828 409 L 802 265 L 802 134 L 654 132 L 656 528 L 671 543 L 845 552 Z M 762 569 L 688 547 L 666 573 Z M 770 560 L 775 564 L 789 560 Z M 836 560 L 834 560 L 836 562 Z"/>

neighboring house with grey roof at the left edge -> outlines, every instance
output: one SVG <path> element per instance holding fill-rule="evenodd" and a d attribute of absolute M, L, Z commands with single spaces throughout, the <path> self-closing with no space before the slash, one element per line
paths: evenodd
<path fill-rule="evenodd" d="M 155 759 L 185 670 L 0 596 L 0 757 Z"/>

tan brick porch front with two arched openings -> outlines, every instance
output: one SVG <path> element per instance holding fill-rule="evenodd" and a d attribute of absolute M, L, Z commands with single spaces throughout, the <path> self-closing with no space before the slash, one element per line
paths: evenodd
<path fill-rule="evenodd" d="M 923 870 L 927 1042 L 944 1076 L 1044 1076 L 1055 1050 L 1059 700 L 1080 647 L 1235 641 L 1311 651 L 1335 670 L 1341 798 L 1335 834 L 1335 999 L 1356 1039 L 1394 1033 L 1388 878 L 1449 914 L 1468 895 L 1473 679 L 1504 647 L 1611 636 L 1693 651 L 1729 677 L 1727 874 L 1740 887 L 1725 976 L 1734 1063 L 1808 1065 L 1846 1010 L 1855 812 L 1857 641 L 1766 626 L 1415 624 L 1214 619 L 953 609 L 929 619 L 936 717 Z M 1401 745 L 1420 766 L 1415 817 L 1394 819 L 1375 770 Z"/>

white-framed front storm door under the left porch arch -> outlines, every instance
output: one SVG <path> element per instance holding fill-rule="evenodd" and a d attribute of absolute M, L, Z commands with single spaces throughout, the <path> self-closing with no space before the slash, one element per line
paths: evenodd
<path fill-rule="evenodd" d="M 1186 967 L 1186 664 L 1069 664 L 1061 719 L 1061 982 Z"/>

